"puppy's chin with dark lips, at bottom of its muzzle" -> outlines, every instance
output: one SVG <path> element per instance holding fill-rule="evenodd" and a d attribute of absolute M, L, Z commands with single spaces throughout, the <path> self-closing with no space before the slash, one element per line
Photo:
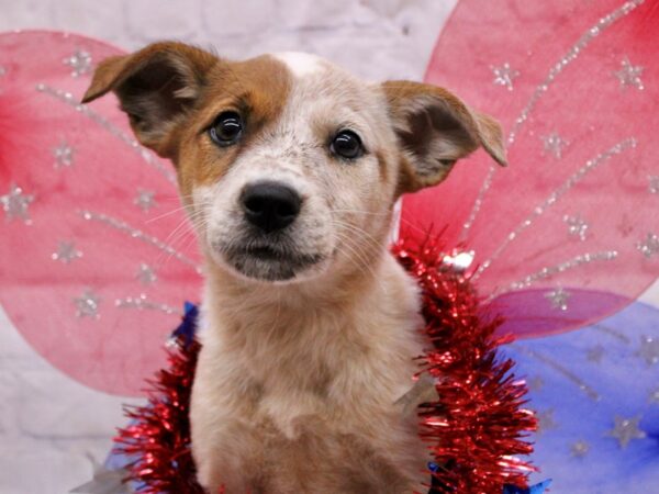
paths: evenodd
<path fill-rule="evenodd" d="M 239 278 L 263 283 L 294 283 L 325 271 L 326 256 L 284 250 L 277 246 L 232 247 L 213 256 Z"/>

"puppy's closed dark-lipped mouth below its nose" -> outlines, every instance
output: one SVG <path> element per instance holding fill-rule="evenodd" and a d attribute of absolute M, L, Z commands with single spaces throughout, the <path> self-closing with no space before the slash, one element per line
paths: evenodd
<path fill-rule="evenodd" d="M 279 244 L 249 244 L 221 247 L 225 261 L 239 274 L 259 281 L 291 281 L 320 265 L 325 256 L 305 254 Z"/>

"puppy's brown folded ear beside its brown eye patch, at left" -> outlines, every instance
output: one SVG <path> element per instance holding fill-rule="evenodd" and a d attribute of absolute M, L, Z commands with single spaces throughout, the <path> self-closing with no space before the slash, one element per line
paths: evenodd
<path fill-rule="evenodd" d="M 217 61 L 214 55 L 182 43 L 155 43 L 101 61 L 82 102 L 113 91 L 137 139 L 171 157 L 176 149 L 171 131 L 194 104 Z"/>

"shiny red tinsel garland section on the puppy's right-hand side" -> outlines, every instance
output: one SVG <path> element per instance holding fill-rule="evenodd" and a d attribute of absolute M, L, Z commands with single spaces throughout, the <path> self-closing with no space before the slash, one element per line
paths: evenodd
<path fill-rule="evenodd" d="M 523 409 L 526 384 L 515 380 L 511 359 L 498 359 L 498 317 L 483 321 L 479 299 L 467 278 L 443 262 L 436 240 L 393 254 L 416 278 L 423 293 L 425 333 L 434 350 L 423 356 L 424 369 L 436 379 L 439 401 L 421 408 L 421 435 L 431 445 L 438 469 L 437 493 L 494 494 L 504 484 L 526 486 L 534 470 L 515 458 L 533 447 L 525 435 L 537 427 Z"/>

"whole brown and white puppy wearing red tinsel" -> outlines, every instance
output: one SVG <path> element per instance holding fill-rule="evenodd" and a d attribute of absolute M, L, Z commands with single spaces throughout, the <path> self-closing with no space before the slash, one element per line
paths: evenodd
<path fill-rule="evenodd" d="M 192 452 L 210 493 L 422 491 L 405 413 L 415 283 L 387 250 L 404 192 L 499 125 L 448 91 L 361 81 L 319 57 L 228 61 L 179 43 L 104 60 L 137 138 L 170 158 L 205 256 Z"/>

